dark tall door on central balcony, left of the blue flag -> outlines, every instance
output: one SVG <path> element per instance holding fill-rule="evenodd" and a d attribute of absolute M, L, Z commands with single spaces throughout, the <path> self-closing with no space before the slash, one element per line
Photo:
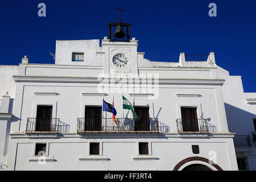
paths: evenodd
<path fill-rule="evenodd" d="M 85 106 L 85 130 L 101 131 L 102 118 L 101 106 Z"/>

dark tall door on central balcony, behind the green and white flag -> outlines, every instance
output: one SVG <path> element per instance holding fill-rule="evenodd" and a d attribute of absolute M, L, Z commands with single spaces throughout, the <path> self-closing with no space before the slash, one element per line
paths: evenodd
<path fill-rule="evenodd" d="M 134 121 L 135 131 L 150 131 L 150 117 L 149 107 L 135 107 L 136 114 L 139 115 L 140 120 Z"/>

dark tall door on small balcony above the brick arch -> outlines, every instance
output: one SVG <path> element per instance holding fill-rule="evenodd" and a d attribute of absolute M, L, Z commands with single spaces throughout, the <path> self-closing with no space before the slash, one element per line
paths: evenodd
<path fill-rule="evenodd" d="M 181 107 L 183 131 L 199 131 L 196 108 Z"/>

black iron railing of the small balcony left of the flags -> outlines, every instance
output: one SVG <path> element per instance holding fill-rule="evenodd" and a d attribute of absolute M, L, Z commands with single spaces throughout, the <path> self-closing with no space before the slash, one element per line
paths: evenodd
<path fill-rule="evenodd" d="M 59 118 L 27 118 L 26 132 L 58 132 Z"/>

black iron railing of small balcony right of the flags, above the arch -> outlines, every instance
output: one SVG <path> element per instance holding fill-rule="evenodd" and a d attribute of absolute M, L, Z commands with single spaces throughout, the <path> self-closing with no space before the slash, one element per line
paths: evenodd
<path fill-rule="evenodd" d="M 177 119 L 177 132 L 216 132 L 216 126 L 210 125 L 207 119 Z"/>

